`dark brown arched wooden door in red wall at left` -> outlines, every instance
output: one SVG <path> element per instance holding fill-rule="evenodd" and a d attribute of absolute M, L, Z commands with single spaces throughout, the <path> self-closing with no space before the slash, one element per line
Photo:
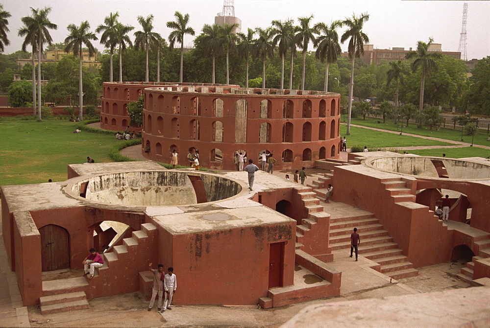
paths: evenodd
<path fill-rule="evenodd" d="M 43 271 L 70 268 L 70 245 L 68 232 L 49 224 L 39 229 L 41 234 L 41 262 Z"/>

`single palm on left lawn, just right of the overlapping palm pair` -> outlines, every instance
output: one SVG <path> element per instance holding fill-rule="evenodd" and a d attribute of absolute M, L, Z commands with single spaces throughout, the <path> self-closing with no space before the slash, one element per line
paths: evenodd
<path fill-rule="evenodd" d="M 97 53 L 96 48 L 90 42 L 91 40 L 97 40 L 97 36 L 93 32 L 89 32 L 90 24 L 88 21 L 80 23 L 80 26 L 76 26 L 75 24 L 70 24 L 67 27 L 68 36 L 65 39 L 65 51 L 78 57 L 78 61 L 80 63 L 79 71 L 78 71 L 78 105 L 80 107 L 78 117 L 80 120 L 83 119 L 83 88 L 82 88 L 82 47 L 85 47 L 89 50 L 89 56 L 93 56 Z"/>

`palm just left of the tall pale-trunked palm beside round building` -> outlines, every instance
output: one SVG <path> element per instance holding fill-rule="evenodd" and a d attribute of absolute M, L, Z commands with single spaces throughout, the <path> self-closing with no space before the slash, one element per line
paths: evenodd
<path fill-rule="evenodd" d="M 328 64 L 335 63 L 337 56 L 341 54 L 342 49 L 339 45 L 339 34 L 337 28 L 342 27 L 341 21 L 334 21 L 330 23 L 330 26 L 325 23 L 315 24 L 315 28 L 323 33 L 314 42 L 317 52 L 317 57 L 325 65 L 325 85 L 323 91 L 328 91 Z"/>

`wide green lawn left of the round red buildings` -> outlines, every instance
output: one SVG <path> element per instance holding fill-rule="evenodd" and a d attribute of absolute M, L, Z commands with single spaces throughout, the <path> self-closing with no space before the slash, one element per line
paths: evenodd
<path fill-rule="evenodd" d="M 0 120 L 0 186 L 65 181 L 67 164 L 112 162 L 110 135 L 75 130 L 66 120 Z"/>

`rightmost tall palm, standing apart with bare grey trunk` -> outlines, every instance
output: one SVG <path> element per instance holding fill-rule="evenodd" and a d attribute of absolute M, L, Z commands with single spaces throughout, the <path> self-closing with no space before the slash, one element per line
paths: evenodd
<path fill-rule="evenodd" d="M 438 65 L 436 59 L 440 59 L 442 55 L 436 51 L 429 51 L 429 47 L 434 42 L 432 38 L 429 39 L 428 43 L 423 41 L 418 41 L 417 50 L 410 51 L 405 55 L 405 58 L 415 59 L 412 63 L 412 70 L 415 73 L 418 68 L 422 69 L 422 78 L 420 79 L 420 103 L 418 105 L 418 114 L 422 115 L 422 109 L 424 107 L 424 86 L 425 86 L 425 76 L 430 76 L 431 70 L 437 70 Z"/>

